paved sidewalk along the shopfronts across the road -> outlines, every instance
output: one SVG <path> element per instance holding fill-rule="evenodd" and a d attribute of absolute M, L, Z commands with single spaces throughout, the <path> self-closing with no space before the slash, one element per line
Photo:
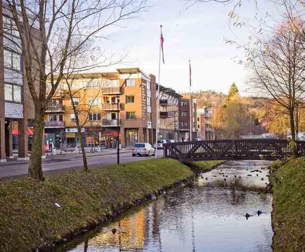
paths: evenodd
<path fill-rule="evenodd" d="M 97 157 L 97 156 L 108 156 L 108 155 L 115 155 L 117 153 L 116 149 L 102 149 L 101 152 L 90 152 L 90 149 L 86 148 L 86 156 L 87 157 Z M 61 153 L 61 154 L 60 154 Z M 120 149 L 119 150 L 120 154 L 123 153 L 130 153 L 130 148 L 125 148 L 125 149 Z M 64 151 L 56 150 L 56 155 L 51 155 L 51 153 L 46 153 L 46 158 L 42 160 L 42 162 L 50 162 L 53 160 L 65 160 L 65 159 L 71 159 L 71 158 L 80 158 L 82 157 L 81 152 L 79 151 L 74 151 L 74 152 L 67 152 L 65 153 Z M 29 157 L 29 154 L 28 154 Z M 14 164 L 27 164 L 29 161 L 17 161 L 17 157 L 14 158 L 8 158 L 7 162 L 5 163 L 0 163 L 1 166 L 8 166 L 8 165 L 14 165 Z"/>

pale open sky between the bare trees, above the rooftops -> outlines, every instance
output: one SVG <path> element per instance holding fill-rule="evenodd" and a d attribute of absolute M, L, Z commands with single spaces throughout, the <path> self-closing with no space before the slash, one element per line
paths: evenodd
<path fill-rule="evenodd" d="M 243 51 L 226 44 L 224 39 L 246 42 L 249 28 L 231 30 L 228 13 L 231 5 L 197 4 L 187 8 L 183 0 L 148 1 L 149 7 L 137 18 L 112 27 L 104 42 L 108 52 L 124 53 L 124 64 L 107 67 L 140 67 L 146 74 L 154 74 L 157 81 L 176 91 L 189 91 L 189 59 L 192 67 L 192 91 L 215 90 L 228 93 L 235 82 L 239 91 L 247 95 L 246 81 L 250 73 L 234 61 Z M 279 8 L 259 2 L 259 9 L 247 2 L 240 8 L 240 18 L 251 22 L 255 13 L 280 13 Z M 274 19 L 275 16 L 273 16 Z M 164 58 L 159 69 L 160 24 L 163 25 Z"/>

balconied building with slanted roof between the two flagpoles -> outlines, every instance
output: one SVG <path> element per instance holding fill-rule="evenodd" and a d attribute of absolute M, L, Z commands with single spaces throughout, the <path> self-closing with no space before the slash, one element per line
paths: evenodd
<path fill-rule="evenodd" d="M 158 85 L 157 85 L 158 89 Z M 158 93 L 158 90 L 157 90 Z M 175 90 L 160 85 L 159 139 L 178 140 L 179 100 L 182 95 Z"/>

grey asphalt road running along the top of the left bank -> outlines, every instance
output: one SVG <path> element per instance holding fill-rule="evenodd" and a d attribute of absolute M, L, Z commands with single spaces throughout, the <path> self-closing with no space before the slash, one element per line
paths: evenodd
<path fill-rule="evenodd" d="M 158 157 L 163 157 L 163 150 L 158 150 Z M 131 153 L 121 153 L 120 163 L 128 163 L 132 161 L 145 160 L 155 158 L 150 157 L 132 157 Z M 116 154 L 98 155 L 87 157 L 89 168 L 115 164 L 117 161 Z M 27 174 L 28 163 L 10 164 L 10 161 L 0 165 L 0 179 L 7 180 L 17 177 L 24 177 Z M 69 172 L 82 169 L 82 157 L 77 154 L 56 155 L 50 159 L 46 159 L 42 163 L 44 173 Z"/>

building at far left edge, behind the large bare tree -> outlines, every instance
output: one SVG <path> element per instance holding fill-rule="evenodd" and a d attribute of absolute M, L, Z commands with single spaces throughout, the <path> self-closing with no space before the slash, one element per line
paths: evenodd
<path fill-rule="evenodd" d="M 27 160 L 34 105 L 22 74 L 21 51 L 16 46 L 20 43 L 19 34 L 2 1 L 0 22 L 3 24 L 0 25 L 0 162 L 13 158 L 13 148 L 18 152 L 18 160 Z M 33 30 L 33 41 L 39 46 L 37 38 Z"/>

